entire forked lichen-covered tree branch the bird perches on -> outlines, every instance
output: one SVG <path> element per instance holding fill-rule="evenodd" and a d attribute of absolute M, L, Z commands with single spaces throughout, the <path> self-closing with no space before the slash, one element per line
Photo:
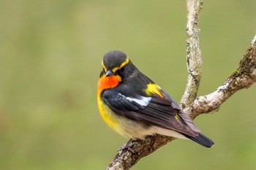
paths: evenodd
<path fill-rule="evenodd" d="M 256 35 L 252 40 L 244 58 L 241 59 L 238 69 L 236 69 L 225 83 L 217 88 L 214 93 L 200 96 L 197 99 L 197 89 L 200 82 L 201 65 L 200 45 L 198 38 L 198 12 L 202 8 L 201 0 L 187 0 L 188 23 L 187 23 L 187 66 L 188 84 L 181 99 L 181 107 L 192 119 L 197 115 L 215 112 L 223 102 L 230 98 L 238 90 L 249 88 L 256 82 Z M 173 137 L 168 136 L 147 136 L 145 140 L 134 140 L 125 144 L 129 149 L 121 148 L 114 160 L 106 169 L 121 170 L 129 169 L 137 163 L 140 158 L 151 154 L 159 147 L 171 142 Z"/>

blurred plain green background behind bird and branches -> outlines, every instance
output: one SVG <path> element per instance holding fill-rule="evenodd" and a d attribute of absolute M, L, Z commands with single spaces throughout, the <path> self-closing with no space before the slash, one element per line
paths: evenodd
<path fill-rule="evenodd" d="M 256 31 L 256 1 L 204 1 L 203 78 L 211 93 Z M 101 59 L 122 50 L 179 101 L 187 81 L 186 1 L 0 1 L 0 169 L 105 169 L 124 139 L 103 123 Z M 195 123 L 211 149 L 176 140 L 132 169 L 256 169 L 256 85 Z"/>

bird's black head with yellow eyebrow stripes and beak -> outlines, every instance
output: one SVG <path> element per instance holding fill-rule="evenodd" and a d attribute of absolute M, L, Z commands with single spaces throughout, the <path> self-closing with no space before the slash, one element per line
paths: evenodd
<path fill-rule="evenodd" d="M 127 66 L 128 63 L 129 58 L 125 53 L 116 50 L 110 51 L 103 57 L 103 73 L 105 73 L 106 76 L 118 74 L 122 71 L 122 69 L 124 69 L 124 66 Z"/>

